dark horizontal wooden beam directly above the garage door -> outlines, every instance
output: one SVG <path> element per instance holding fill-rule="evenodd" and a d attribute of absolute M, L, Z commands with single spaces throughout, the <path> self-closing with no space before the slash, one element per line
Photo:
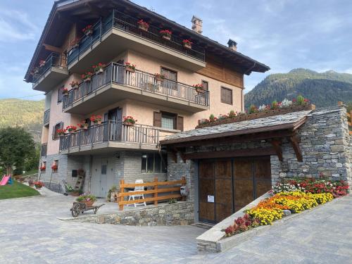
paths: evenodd
<path fill-rule="evenodd" d="M 251 157 L 251 156 L 271 156 L 276 155 L 273 148 L 260 148 L 260 149 L 237 149 L 233 151 L 207 151 L 207 152 L 194 152 L 185 153 L 184 158 L 202 159 L 202 158 L 235 158 L 235 157 Z"/>

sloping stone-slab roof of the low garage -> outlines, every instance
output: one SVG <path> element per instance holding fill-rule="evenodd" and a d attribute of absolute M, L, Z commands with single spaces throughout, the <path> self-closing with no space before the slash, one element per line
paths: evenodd
<path fill-rule="evenodd" d="M 274 130 L 296 130 L 305 121 L 311 111 L 299 111 L 284 115 L 274 115 L 268 118 L 258 118 L 230 124 L 203 127 L 172 134 L 162 140 L 161 145 L 175 144 L 180 142 L 192 142 L 202 139 L 215 139 L 218 137 L 229 137 L 241 134 L 253 134 Z"/>

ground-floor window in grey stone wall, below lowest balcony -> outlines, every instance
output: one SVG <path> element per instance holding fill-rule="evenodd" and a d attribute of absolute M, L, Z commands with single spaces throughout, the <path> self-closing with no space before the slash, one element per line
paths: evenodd
<path fill-rule="evenodd" d="M 142 173 L 165 173 L 167 162 L 166 153 L 142 153 Z"/>

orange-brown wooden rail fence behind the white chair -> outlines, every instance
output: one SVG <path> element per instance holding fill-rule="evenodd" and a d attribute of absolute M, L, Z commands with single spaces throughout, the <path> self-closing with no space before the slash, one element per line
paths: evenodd
<path fill-rule="evenodd" d="M 180 185 L 180 186 L 175 186 L 175 185 Z M 182 180 L 177 180 L 177 181 L 169 181 L 169 182 L 158 182 L 158 177 L 154 178 L 153 182 L 143 182 L 143 183 L 125 183 L 125 180 L 120 180 L 120 194 L 119 196 L 119 202 L 118 206 L 120 210 L 123 210 L 123 207 L 127 204 L 133 204 L 133 203 L 144 203 L 144 202 L 149 202 L 153 201 L 154 206 L 158 205 L 158 201 L 161 200 L 169 200 L 169 199 L 181 199 L 182 196 L 180 194 L 180 188 L 182 186 L 186 185 L 186 179 L 182 177 Z M 134 189 L 134 187 L 137 186 L 143 186 L 143 187 L 150 187 L 151 189 L 148 189 L 146 191 L 125 191 L 126 188 Z M 159 188 L 163 187 L 163 188 Z M 172 192 L 177 192 L 176 194 L 173 194 Z M 161 193 L 168 193 L 166 195 L 158 196 L 158 194 Z M 125 201 L 125 197 L 128 197 L 130 195 L 137 195 L 137 194 L 152 194 L 153 197 L 145 198 L 144 199 L 138 199 L 138 200 L 131 200 L 131 201 Z"/>

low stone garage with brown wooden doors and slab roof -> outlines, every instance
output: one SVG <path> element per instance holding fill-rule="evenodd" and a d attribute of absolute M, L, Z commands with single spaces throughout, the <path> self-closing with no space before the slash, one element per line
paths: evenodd
<path fill-rule="evenodd" d="M 210 124 L 161 141 L 169 151 L 168 178 L 186 177 L 189 182 L 187 201 L 194 203 L 196 222 L 221 222 L 282 177 L 332 177 L 351 186 L 346 108 L 277 110 L 275 115 L 252 114 L 251 119 Z"/>

